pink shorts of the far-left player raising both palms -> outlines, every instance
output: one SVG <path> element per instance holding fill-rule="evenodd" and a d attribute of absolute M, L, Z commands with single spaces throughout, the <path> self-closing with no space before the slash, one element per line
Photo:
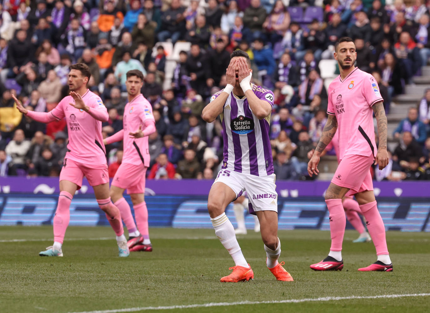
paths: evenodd
<path fill-rule="evenodd" d="M 88 165 L 68 158 L 64 159 L 60 172 L 60 181 L 71 181 L 78 185 L 78 190 L 82 186 L 83 177 L 88 179 L 91 186 L 106 184 L 109 182 L 107 164 Z"/>

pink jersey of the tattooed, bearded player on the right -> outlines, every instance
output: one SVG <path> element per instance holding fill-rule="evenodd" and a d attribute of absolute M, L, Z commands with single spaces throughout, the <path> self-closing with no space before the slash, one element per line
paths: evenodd
<path fill-rule="evenodd" d="M 342 81 L 330 83 L 327 113 L 338 120 L 339 159 L 345 155 L 376 156 L 372 105 L 383 101 L 375 78 L 355 68 Z"/>

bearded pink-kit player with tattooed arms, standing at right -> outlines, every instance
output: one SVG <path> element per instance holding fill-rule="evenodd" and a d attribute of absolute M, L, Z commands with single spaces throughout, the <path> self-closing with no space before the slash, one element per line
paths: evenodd
<path fill-rule="evenodd" d="M 356 49 L 353 40 L 343 37 L 335 46 L 335 60 L 340 75 L 329 85 L 329 118 L 322 136 L 308 163 L 309 175 L 318 175 L 321 153 L 332 140 L 336 131 L 339 135 L 339 166 L 326 191 L 329 209 L 332 245 L 327 258 L 310 265 L 313 270 L 341 270 L 342 242 L 345 233 L 345 212 L 342 206 L 344 196 L 355 195 L 359 208 L 366 219 L 367 228 L 376 248 L 377 261 L 359 271 L 392 271 L 385 239 L 385 227 L 379 214 L 372 176 L 369 168 L 374 163 L 383 169 L 388 164 L 387 117 L 383 99 L 375 78 L 354 66 Z M 373 113 L 378 124 L 379 147 L 376 150 Z"/>

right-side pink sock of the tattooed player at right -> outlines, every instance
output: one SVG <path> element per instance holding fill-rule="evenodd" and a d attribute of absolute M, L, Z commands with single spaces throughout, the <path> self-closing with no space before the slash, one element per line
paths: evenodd
<path fill-rule="evenodd" d="M 376 248 L 376 255 L 387 255 L 387 240 L 385 239 L 385 226 L 376 206 L 376 201 L 372 201 L 360 206 L 361 212 L 366 219 L 367 230 L 372 237 Z"/>

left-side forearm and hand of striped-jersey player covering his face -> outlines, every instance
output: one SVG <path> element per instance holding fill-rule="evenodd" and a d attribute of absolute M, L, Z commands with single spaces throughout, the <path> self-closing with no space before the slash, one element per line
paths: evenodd
<path fill-rule="evenodd" d="M 212 123 L 218 115 L 222 113 L 225 101 L 227 101 L 228 96 L 233 91 L 234 84 L 236 83 L 236 59 L 230 60 L 225 76 L 227 86 L 225 86 L 223 92 L 221 92 L 221 94 L 213 101 L 209 102 L 202 111 L 202 118 L 207 123 Z"/>

